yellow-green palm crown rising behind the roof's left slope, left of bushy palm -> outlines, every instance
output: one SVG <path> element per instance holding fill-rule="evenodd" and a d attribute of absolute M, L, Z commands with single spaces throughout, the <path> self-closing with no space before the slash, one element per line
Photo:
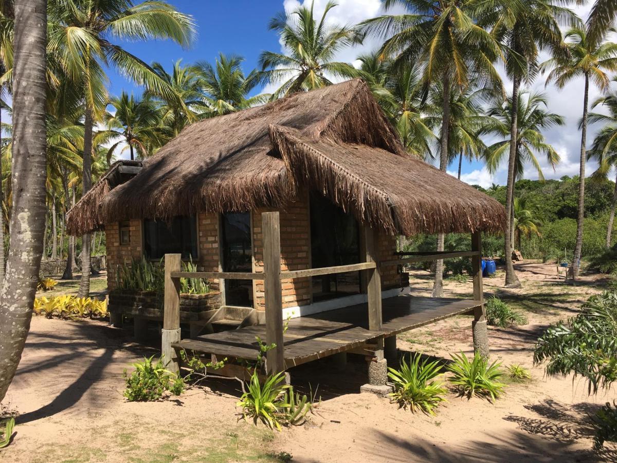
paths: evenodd
<path fill-rule="evenodd" d="M 152 98 L 162 106 L 163 125 L 167 127 L 169 138 L 177 136 L 206 111 L 203 94 L 199 89 L 199 71 L 194 66 L 183 66 L 181 62 L 177 60 L 173 64 L 172 73 L 168 73 L 160 63 L 152 63 L 152 69 L 171 93 L 154 87 L 146 87 L 144 92 L 145 98 Z"/>

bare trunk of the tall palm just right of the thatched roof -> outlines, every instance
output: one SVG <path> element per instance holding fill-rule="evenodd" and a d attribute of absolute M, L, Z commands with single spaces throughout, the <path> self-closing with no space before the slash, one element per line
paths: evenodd
<path fill-rule="evenodd" d="M 508 158 L 508 185 L 506 188 L 505 199 L 505 217 L 506 217 L 506 229 L 503 236 L 504 251 L 505 251 L 505 285 L 508 288 L 516 288 L 521 283 L 516 277 L 514 271 L 514 265 L 512 265 L 512 241 L 511 233 L 513 224 L 511 223 L 511 215 L 513 211 L 513 198 L 514 198 L 514 171 L 516 165 L 516 141 L 518 140 L 518 89 L 521 85 L 521 78 L 517 74 L 514 76 L 514 83 L 512 86 L 512 112 L 510 115 L 510 157 Z"/>

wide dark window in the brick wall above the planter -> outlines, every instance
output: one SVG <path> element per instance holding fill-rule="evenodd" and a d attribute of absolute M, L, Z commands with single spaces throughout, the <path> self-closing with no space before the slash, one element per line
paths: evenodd
<path fill-rule="evenodd" d="M 144 253 L 149 259 L 157 260 L 165 254 L 197 259 L 195 217 L 174 217 L 169 223 L 144 219 Z"/>

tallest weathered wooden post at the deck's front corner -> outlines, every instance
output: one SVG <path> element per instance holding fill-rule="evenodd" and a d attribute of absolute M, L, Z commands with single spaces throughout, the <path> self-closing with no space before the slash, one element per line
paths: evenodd
<path fill-rule="evenodd" d="M 268 374 L 285 369 L 283 344 L 283 295 L 281 294 L 281 233 L 278 212 L 262 212 L 263 286 L 266 303 L 266 343 L 276 344 L 267 352 Z"/>

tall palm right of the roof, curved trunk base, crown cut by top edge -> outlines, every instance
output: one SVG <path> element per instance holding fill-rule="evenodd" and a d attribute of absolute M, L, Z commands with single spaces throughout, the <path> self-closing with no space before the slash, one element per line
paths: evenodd
<path fill-rule="evenodd" d="M 560 24 L 580 24 L 580 19 L 564 5 L 575 0 L 526 0 L 524 2 L 474 2 L 479 25 L 491 29 L 491 36 L 502 43 L 505 53 L 505 69 L 512 80 L 510 152 L 508 153 L 508 180 L 506 190 L 506 215 L 512 216 L 516 140 L 518 133 L 518 93 L 523 81 L 531 82 L 539 72 L 539 56 L 543 49 L 552 56 L 565 54 L 566 48 L 561 37 Z M 512 223 L 506 222 L 505 283 L 508 287 L 520 286 L 512 265 L 511 249 Z"/>

